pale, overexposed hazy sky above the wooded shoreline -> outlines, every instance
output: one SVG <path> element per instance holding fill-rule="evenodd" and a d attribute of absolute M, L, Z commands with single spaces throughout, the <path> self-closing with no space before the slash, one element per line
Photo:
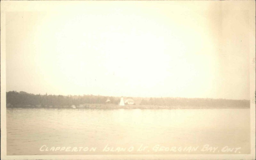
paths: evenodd
<path fill-rule="evenodd" d="M 7 13 L 7 91 L 249 99 L 248 11 L 108 2 Z"/>

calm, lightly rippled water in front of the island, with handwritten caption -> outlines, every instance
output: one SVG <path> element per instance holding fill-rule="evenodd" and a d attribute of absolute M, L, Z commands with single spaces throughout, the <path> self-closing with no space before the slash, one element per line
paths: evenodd
<path fill-rule="evenodd" d="M 250 109 L 6 112 L 7 155 L 250 153 Z"/>

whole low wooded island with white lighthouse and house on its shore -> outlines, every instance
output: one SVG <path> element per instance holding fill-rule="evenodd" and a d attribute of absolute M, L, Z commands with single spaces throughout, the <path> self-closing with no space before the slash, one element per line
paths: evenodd
<path fill-rule="evenodd" d="M 202 109 L 250 108 L 250 100 L 180 97 L 108 97 L 100 95 L 48 95 L 6 92 L 6 107 L 71 109 Z"/>

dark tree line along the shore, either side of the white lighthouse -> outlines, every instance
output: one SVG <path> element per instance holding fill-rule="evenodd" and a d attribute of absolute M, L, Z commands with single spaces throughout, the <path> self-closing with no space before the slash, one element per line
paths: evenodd
<path fill-rule="evenodd" d="M 104 104 L 109 98 L 110 103 L 118 104 L 120 97 L 107 97 L 95 95 L 44 95 L 30 94 L 24 91 L 6 92 L 6 104 L 11 105 L 54 105 L 71 106 L 80 104 Z M 132 98 L 135 105 L 159 105 L 159 106 L 198 106 L 198 107 L 250 107 L 249 100 L 212 99 L 212 98 Z"/>

